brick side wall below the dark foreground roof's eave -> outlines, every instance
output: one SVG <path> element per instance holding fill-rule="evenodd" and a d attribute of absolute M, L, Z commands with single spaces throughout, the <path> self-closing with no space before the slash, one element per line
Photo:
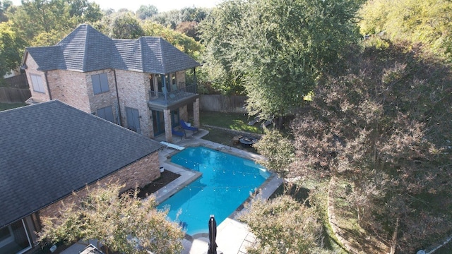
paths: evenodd
<path fill-rule="evenodd" d="M 107 186 L 109 183 L 119 183 L 124 184 L 122 191 L 129 190 L 136 187 L 144 187 L 146 184 L 154 181 L 160 177 L 160 162 L 158 159 L 158 152 L 153 152 L 152 154 L 139 159 L 133 164 L 119 169 L 119 171 L 114 172 L 103 179 L 100 179 L 96 183 L 90 184 L 88 188 L 92 189 L 96 186 Z M 51 190 L 50 190 L 51 191 Z M 44 207 L 40 210 L 40 217 L 58 217 L 59 210 L 62 205 L 75 202 L 78 196 L 85 196 L 87 194 L 87 189 L 82 188 L 80 191 L 76 192 L 76 195 L 69 195 L 66 198 L 54 202 L 52 205 Z"/>

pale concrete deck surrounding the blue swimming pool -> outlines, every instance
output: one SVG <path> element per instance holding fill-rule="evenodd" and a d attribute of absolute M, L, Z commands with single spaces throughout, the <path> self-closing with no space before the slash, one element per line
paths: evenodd
<path fill-rule="evenodd" d="M 256 155 L 251 152 L 246 152 L 235 147 L 229 147 L 201 139 L 207 133 L 208 131 L 202 129 L 200 129 L 196 134 L 187 132 L 186 138 L 179 139 L 174 137 L 173 144 L 179 147 L 194 147 L 203 145 L 215 150 L 219 150 L 221 152 L 227 152 L 232 155 L 244 157 L 246 159 L 263 159 L 263 157 L 261 157 L 260 155 Z M 198 172 L 184 169 L 183 167 L 169 162 L 168 158 L 177 152 L 179 152 L 179 150 L 171 147 L 165 147 L 159 152 L 160 166 L 164 167 L 166 170 L 181 174 L 178 179 L 167 184 L 167 186 L 161 188 L 159 191 L 157 191 L 157 193 L 155 193 L 156 200 L 159 203 L 169 198 L 171 195 L 173 195 L 192 181 L 196 180 L 199 176 Z M 283 183 L 283 179 L 280 179 L 274 175 L 270 176 L 270 178 L 267 179 L 267 181 L 265 181 L 261 186 L 260 192 L 258 193 L 258 198 L 268 199 L 270 195 L 272 195 L 276 191 L 281 183 Z M 255 243 L 256 238 L 249 231 L 249 227 L 246 226 L 246 224 L 235 219 L 241 212 L 244 212 L 244 210 L 234 212 L 230 215 L 230 217 L 227 217 L 225 221 L 218 225 L 216 241 L 218 245 L 218 253 L 246 253 L 246 247 L 251 246 Z M 206 218 L 206 224 L 207 223 L 208 218 Z M 208 234 L 196 234 L 193 237 L 186 236 L 182 243 L 184 245 L 182 254 L 207 253 L 209 243 Z"/>

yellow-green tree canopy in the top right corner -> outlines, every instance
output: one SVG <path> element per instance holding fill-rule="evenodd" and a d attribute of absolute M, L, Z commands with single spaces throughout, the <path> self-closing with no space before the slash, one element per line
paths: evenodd
<path fill-rule="evenodd" d="M 452 1 L 375 0 L 359 11 L 363 35 L 384 32 L 392 39 L 427 44 L 452 57 Z"/>

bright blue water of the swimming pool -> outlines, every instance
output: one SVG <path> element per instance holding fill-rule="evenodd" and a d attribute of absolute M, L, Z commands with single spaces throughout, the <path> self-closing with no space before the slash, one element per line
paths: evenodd
<path fill-rule="evenodd" d="M 270 176 L 249 159 L 207 147 L 188 147 L 172 156 L 171 162 L 202 173 L 157 207 L 169 208 L 169 218 L 182 224 L 189 235 L 208 233 L 210 214 L 220 224 Z"/>

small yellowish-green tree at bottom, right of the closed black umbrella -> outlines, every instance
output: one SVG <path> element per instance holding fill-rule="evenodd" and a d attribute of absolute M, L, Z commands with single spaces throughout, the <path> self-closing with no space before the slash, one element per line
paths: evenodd
<path fill-rule="evenodd" d="M 258 239 L 247 253 L 322 253 L 322 227 L 313 207 L 283 195 L 247 208 L 239 219 Z"/>

